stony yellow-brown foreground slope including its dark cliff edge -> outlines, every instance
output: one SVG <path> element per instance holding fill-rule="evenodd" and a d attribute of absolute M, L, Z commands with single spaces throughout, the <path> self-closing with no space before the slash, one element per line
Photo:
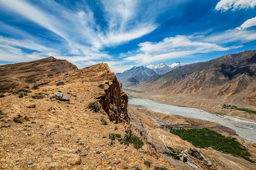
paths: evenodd
<path fill-rule="evenodd" d="M 59 81 L 64 84 L 57 86 Z M 60 101 L 55 93 L 69 100 Z M 109 139 L 110 133 L 124 136 L 130 119 L 127 95 L 107 64 L 66 71 L 3 95 L 0 169 L 176 169 L 146 142 L 135 149 Z M 96 100 L 102 105 L 99 113 L 88 108 Z M 107 125 L 102 117 L 109 117 Z M 144 161 L 151 162 L 150 168 Z"/>

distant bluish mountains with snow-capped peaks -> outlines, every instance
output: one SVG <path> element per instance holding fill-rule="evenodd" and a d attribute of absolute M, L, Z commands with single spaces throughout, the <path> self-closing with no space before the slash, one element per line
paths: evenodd
<path fill-rule="evenodd" d="M 122 82 L 124 87 L 134 86 L 140 82 L 145 82 L 157 75 L 162 75 L 169 71 L 172 71 L 174 68 L 184 66 L 180 62 L 175 62 L 170 66 L 167 66 L 164 63 L 158 65 L 148 65 L 148 66 L 139 66 L 132 67 L 130 70 L 126 70 L 123 73 L 116 73 L 117 79 Z"/>

